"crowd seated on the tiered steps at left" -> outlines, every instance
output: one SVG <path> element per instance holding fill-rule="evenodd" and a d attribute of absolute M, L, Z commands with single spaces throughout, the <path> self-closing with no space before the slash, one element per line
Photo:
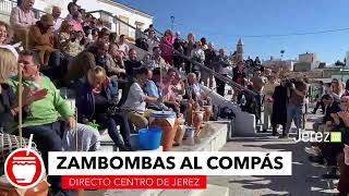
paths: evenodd
<path fill-rule="evenodd" d="M 23 110 L 23 137 L 34 135 L 46 167 L 48 151 L 97 150 L 98 130 L 106 128 L 119 150 L 133 151 L 130 134 L 148 127 L 153 111 L 171 111 L 192 125 L 193 106 L 212 105 L 198 85 L 203 74 L 194 71 L 200 70 L 188 69 L 188 78 L 176 70 L 185 69 L 188 61 L 173 58 L 170 30 L 157 41 L 151 26 L 147 34 L 153 39 L 147 40 L 153 41 L 147 49 L 152 52 L 140 61 L 137 50 L 130 48 L 124 35 L 110 33 L 76 1 L 69 4 L 67 17 L 62 19 L 60 8 L 53 7 L 51 14 L 38 21 L 34 3 L 23 0 L 12 10 L 10 24 L 0 22 L 0 127 L 1 134 L 19 135 L 17 113 Z M 17 42 L 22 50 L 16 48 Z M 188 48 L 184 42 L 179 45 Z M 197 41 L 195 46 L 186 52 L 193 58 L 203 54 L 204 62 L 200 47 L 206 44 Z M 17 105 L 17 71 L 24 86 L 23 108 Z M 75 106 L 64 100 L 61 87 L 75 91 Z M 97 131 L 93 126 L 96 124 Z M 60 176 L 48 180 L 53 195 L 71 194 L 61 188 Z"/>

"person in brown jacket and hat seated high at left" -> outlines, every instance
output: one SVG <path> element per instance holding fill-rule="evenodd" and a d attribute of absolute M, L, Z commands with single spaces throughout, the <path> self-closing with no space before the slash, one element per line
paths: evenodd
<path fill-rule="evenodd" d="M 29 50 L 37 51 L 41 65 L 58 68 L 60 64 L 60 53 L 53 47 L 53 25 L 55 19 L 51 14 L 45 14 L 40 21 L 31 26 L 28 33 Z"/>

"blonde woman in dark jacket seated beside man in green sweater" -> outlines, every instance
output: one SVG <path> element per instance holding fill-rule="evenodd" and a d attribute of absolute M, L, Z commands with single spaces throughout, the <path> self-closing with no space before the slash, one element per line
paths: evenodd
<path fill-rule="evenodd" d="M 109 136 L 120 151 L 132 151 L 128 118 L 121 115 L 117 107 L 117 79 L 108 78 L 105 69 L 95 66 L 88 70 L 87 76 L 80 82 L 76 90 L 79 121 L 88 124 L 95 120 L 101 128 L 108 128 Z M 120 125 L 122 139 L 117 125 Z"/>

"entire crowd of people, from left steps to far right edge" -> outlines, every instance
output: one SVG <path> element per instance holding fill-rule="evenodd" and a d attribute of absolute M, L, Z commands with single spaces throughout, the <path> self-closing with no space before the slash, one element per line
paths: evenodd
<path fill-rule="evenodd" d="M 205 38 L 196 40 L 194 34 L 189 34 L 183 40 L 179 33 L 166 30 L 159 39 L 151 25 L 144 33 L 137 32 L 135 45 L 149 52 L 140 61 L 127 36 L 111 33 L 76 1 L 68 5 L 64 19 L 60 8 L 53 7 L 51 14 L 44 14 L 38 21 L 33 12 L 34 2 L 23 0 L 14 8 L 10 25 L 0 22 L 0 127 L 4 133 L 17 134 L 16 115 L 21 109 L 15 95 L 20 63 L 25 87 L 23 136 L 34 134 L 46 166 L 48 151 L 97 150 L 99 132 L 89 126 L 92 122 L 108 130 L 119 150 L 132 151 L 130 134 L 147 127 L 153 111 L 172 111 L 191 125 L 193 106 L 213 105 L 200 84 L 213 88 L 215 82 L 217 94 L 226 95 L 226 83 L 197 63 L 228 76 L 231 61 L 225 49 L 216 51 Z M 13 46 L 19 41 L 25 49 L 20 52 Z M 262 121 L 264 108 L 263 132 L 270 128 L 276 136 L 281 125 L 280 137 L 286 137 L 293 121 L 298 130 L 303 128 L 305 100 L 310 95 L 306 79 L 287 78 L 263 66 L 254 68 L 249 78 L 251 68 L 246 62 L 236 63 L 232 81 L 254 94 L 236 90 L 234 99 L 242 110 L 255 114 L 256 123 Z M 349 142 L 349 83 L 333 79 L 328 87 L 323 83 L 318 86 L 313 113 L 321 107 L 324 118 L 315 130 L 339 130 L 342 142 L 314 143 L 306 151 L 312 152 L 311 160 L 322 163 L 325 159 L 330 166 L 333 173 L 327 177 L 333 177 L 339 168 L 339 191 L 348 193 L 349 152 L 345 144 Z M 75 107 L 67 103 L 58 87 L 74 89 Z M 81 135 L 80 146 L 74 134 Z M 50 176 L 49 181 L 53 194 L 69 194 L 61 189 L 60 176 Z"/>

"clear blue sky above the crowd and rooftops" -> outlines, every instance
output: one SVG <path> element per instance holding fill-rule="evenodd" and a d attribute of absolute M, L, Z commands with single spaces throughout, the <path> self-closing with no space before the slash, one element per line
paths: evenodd
<path fill-rule="evenodd" d="M 299 53 L 316 52 L 327 63 L 345 58 L 349 51 L 349 30 L 329 34 L 282 37 L 246 37 L 321 32 L 349 27 L 348 0 L 117 0 L 154 15 L 157 29 L 171 27 L 186 37 L 206 37 L 228 51 L 236 48 L 239 35 L 245 58 L 266 60 L 270 56 L 296 59 Z"/>

